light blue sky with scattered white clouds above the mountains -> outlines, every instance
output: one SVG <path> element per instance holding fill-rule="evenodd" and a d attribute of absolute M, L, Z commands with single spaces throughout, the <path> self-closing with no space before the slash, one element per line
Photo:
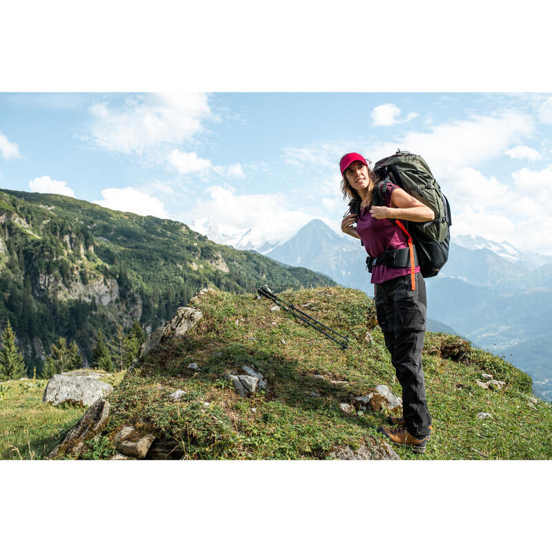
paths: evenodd
<path fill-rule="evenodd" d="M 422 155 L 471 234 L 552 254 L 552 95 L 0 94 L 0 188 L 60 193 L 260 246 L 339 233 L 339 158 Z"/>

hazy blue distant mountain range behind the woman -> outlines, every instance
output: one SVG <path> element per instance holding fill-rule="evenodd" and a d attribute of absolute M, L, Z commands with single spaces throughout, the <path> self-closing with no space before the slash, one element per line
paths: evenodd
<path fill-rule="evenodd" d="M 267 253 L 293 266 L 318 270 L 342 286 L 373 295 L 359 241 L 313 220 Z M 535 393 L 552 400 L 552 257 L 473 237 L 454 237 L 440 275 L 426 279 L 428 328 L 471 339 L 515 360 L 535 380 Z M 454 328 L 454 329 L 453 329 Z M 539 348 L 525 355 L 531 344 Z M 549 345 L 551 343 L 551 345 Z"/>

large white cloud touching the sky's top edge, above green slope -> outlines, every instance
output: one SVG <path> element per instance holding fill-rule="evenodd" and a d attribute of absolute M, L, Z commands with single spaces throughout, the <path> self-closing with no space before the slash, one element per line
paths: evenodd
<path fill-rule="evenodd" d="M 107 102 L 90 108 L 90 138 L 108 151 L 141 154 L 161 144 L 180 144 L 201 130 L 210 117 L 206 94 L 130 96 L 122 108 Z"/>

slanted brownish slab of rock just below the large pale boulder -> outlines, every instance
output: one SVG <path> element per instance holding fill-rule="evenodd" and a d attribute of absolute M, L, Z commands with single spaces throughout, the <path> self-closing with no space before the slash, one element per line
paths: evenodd
<path fill-rule="evenodd" d="M 63 437 L 63 441 L 48 455 L 48 460 L 61 457 L 78 458 L 86 441 L 98 435 L 106 427 L 109 417 L 109 403 L 98 399 L 83 417 Z"/>

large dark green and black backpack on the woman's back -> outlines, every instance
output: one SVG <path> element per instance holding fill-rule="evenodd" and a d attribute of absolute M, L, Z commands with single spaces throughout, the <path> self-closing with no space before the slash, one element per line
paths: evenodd
<path fill-rule="evenodd" d="M 441 192 L 428 164 L 420 155 L 397 150 L 395 155 L 377 161 L 373 171 L 380 178 L 373 190 L 375 206 L 384 205 L 383 194 L 388 182 L 391 181 L 435 213 L 435 219 L 432 221 L 408 221 L 406 233 L 411 236 L 415 246 L 422 276 L 436 276 L 449 258 L 449 227 L 452 225 L 452 219 L 449 201 Z M 384 259 L 380 262 L 382 261 L 384 262 Z"/>

